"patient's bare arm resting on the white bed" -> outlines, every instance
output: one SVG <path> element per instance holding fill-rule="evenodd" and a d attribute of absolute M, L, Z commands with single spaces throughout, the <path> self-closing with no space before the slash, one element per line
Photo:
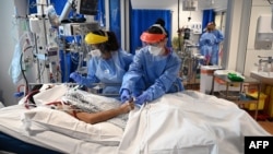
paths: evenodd
<path fill-rule="evenodd" d="M 133 107 L 134 107 L 133 103 L 124 103 L 120 107 L 115 108 L 115 109 L 105 110 L 105 111 L 100 111 L 100 112 L 92 112 L 92 114 L 80 111 L 80 112 L 74 112 L 74 116 L 79 120 L 94 125 L 94 123 L 109 120 L 109 119 L 115 118 L 119 115 L 127 114 L 131 109 L 133 109 Z"/>

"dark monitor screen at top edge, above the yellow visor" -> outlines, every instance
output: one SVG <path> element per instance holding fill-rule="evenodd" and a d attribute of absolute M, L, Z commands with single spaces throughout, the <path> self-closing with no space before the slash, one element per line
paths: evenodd
<path fill-rule="evenodd" d="M 79 13 L 86 15 L 96 15 L 97 2 L 98 0 L 80 0 Z"/>

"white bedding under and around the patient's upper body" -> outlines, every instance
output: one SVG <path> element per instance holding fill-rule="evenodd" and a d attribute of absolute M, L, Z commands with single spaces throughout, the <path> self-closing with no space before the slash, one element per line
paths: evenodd
<path fill-rule="evenodd" d="M 45 90 L 47 86 L 44 85 L 43 90 L 34 95 L 38 106 L 36 108 L 25 108 L 26 97 L 17 105 L 1 108 L 0 131 L 27 143 L 62 153 L 116 153 L 122 138 L 122 128 L 108 121 L 96 125 L 85 123 L 63 111 L 45 106 L 48 103 L 61 100 L 62 96 L 70 92 L 82 94 L 85 100 L 94 99 L 102 105 L 117 102 L 115 98 L 75 91 L 64 84 Z"/>

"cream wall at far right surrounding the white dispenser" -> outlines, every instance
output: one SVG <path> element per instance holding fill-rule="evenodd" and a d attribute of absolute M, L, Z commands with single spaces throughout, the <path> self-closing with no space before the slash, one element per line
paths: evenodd
<path fill-rule="evenodd" d="M 273 49 L 254 49 L 258 17 L 271 13 L 268 0 L 228 0 L 222 63 L 225 69 L 250 75 L 258 69 L 258 56 L 273 56 Z"/>

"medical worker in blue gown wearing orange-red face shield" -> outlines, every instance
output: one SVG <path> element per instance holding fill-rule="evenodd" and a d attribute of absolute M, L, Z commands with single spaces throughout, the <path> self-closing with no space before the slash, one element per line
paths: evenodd
<path fill-rule="evenodd" d="M 178 72 L 180 58 L 167 48 L 165 22 L 157 22 L 141 35 L 143 48 L 136 51 L 133 62 L 123 76 L 121 102 L 135 97 L 135 104 L 152 102 L 166 93 L 183 90 Z"/>

